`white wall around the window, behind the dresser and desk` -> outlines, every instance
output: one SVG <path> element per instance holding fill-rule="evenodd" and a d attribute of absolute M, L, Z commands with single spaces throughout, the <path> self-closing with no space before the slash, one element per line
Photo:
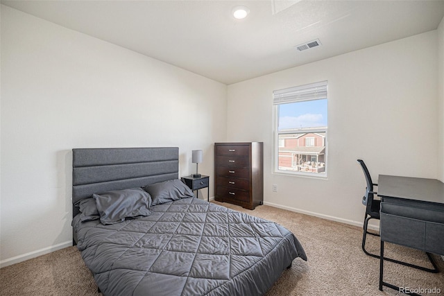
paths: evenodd
<path fill-rule="evenodd" d="M 431 31 L 229 85 L 228 141 L 264 141 L 266 204 L 362 225 L 365 180 L 356 159 L 374 181 L 379 173 L 437 177 L 437 61 Z M 323 80 L 328 179 L 273 174 L 273 90 Z"/>

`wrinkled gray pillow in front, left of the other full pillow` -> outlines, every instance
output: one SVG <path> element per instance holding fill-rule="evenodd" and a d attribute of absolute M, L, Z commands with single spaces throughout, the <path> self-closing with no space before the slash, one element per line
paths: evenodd
<path fill-rule="evenodd" d="M 92 197 L 96 200 L 100 222 L 103 225 L 151 214 L 151 197 L 141 188 L 107 191 L 93 194 Z"/>

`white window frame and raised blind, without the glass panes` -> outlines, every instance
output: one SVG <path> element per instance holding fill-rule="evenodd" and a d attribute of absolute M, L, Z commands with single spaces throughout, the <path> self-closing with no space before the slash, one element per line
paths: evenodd
<path fill-rule="evenodd" d="M 273 172 L 275 174 L 294 175 L 302 177 L 315 177 L 321 179 L 327 179 L 328 175 L 328 123 L 325 130 L 319 130 L 318 128 L 304 128 L 294 129 L 286 132 L 279 132 L 279 105 L 284 103 L 297 103 L 301 101 L 313 101 L 318 99 L 327 99 L 327 81 L 311 83 L 309 85 L 301 85 L 298 87 L 290 87 L 287 89 L 280 89 L 273 92 L 273 108 L 274 108 L 274 125 L 273 125 Z M 328 112 L 328 107 L 327 107 Z M 327 115 L 328 116 L 328 115 Z M 279 169 L 279 134 L 294 134 L 298 132 L 304 133 L 318 133 L 325 132 L 325 138 L 323 139 L 323 146 L 325 146 L 325 173 L 311 173 L 303 171 L 289 171 Z"/>

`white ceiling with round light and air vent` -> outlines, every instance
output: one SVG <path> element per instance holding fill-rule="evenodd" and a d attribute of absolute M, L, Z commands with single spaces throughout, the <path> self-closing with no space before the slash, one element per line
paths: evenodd
<path fill-rule="evenodd" d="M 1 3 L 228 85 L 432 31 L 444 17 L 444 0 Z M 238 5 L 246 19 L 232 17 Z"/>

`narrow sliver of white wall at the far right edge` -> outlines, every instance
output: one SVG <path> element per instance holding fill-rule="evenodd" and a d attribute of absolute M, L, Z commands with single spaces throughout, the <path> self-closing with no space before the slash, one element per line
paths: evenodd
<path fill-rule="evenodd" d="M 444 18 L 438 26 L 438 178 L 444 182 Z"/>

